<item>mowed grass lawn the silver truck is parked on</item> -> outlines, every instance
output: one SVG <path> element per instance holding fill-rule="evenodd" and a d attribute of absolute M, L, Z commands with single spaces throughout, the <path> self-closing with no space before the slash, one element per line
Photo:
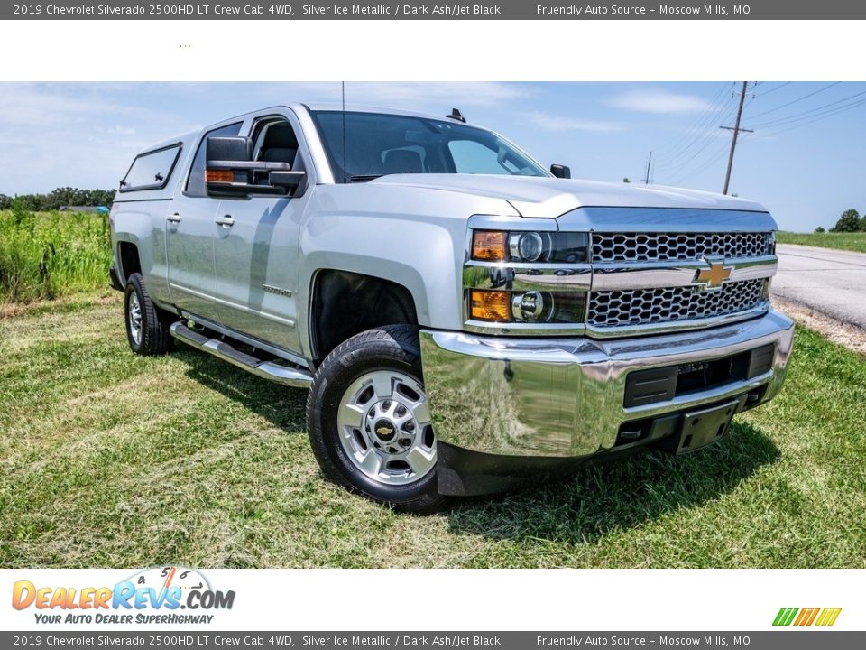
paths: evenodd
<path fill-rule="evenodd" d="M 712 449 L 429 517 L 325 482 L 302 391 L 135 357 L 116 294 L 0 320 L 0 388 L 3 567 L 866 566 L 866 360 L 810 331 Z"/>

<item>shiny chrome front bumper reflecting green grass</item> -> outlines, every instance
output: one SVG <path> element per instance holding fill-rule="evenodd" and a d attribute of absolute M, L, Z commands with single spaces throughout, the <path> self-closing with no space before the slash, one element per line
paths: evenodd
<path fill-rule="evenodd" d="M 425 387 L 438 441 L 502 456 L 580 458 L 612 450 L 625 422 L 781 388 L 794 323 L 778 311 L 712 330 L 640 339 L 494 338 L 421 331 Z M 769 371 L 666 402 L 625 407 L 635 370 L 712 361 L 775 345 Z M 752 404 L 754 405 L 754 404 Z"/>

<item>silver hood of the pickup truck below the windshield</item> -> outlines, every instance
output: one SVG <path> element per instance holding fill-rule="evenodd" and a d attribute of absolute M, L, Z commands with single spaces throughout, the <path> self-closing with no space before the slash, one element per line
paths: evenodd
<path fill-rule="evenodd" d="M 631 183 L 484 174 L 391 174 L 370 182 L 507 200 L 522 217 L 528 218 L 557 218 L 589 206 L 767 211 L 760 203 L 738 197 Z"/>

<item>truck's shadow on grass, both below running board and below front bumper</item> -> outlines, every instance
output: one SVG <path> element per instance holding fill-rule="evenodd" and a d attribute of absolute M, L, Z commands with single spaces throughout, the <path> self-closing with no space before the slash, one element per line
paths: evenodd
<path fill-rule="evenodd" d="M 189 364 L 191 379 L 287 434 L 306 434 L 304 391 L 268 383 L 199 352 L 181 348 L 178 356 Z M 445 516 L 455 534 L 592 543 L 613 531 L 721 497 L 779 457 L 764 432 L 736 422 L 723 441 L 695 454 L 675 458 L 657 451 L 640 453 L 520 491 L 457 499 Z M 315 462 L 311 454 L 308 460 Z"/>

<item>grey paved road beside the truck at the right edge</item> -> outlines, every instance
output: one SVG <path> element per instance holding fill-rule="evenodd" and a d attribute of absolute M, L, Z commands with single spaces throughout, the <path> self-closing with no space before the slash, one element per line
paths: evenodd
<path fill-rule="evenodd" d="M 772 292 L 866 329 L 866 254 L 779 244 Z"/>

